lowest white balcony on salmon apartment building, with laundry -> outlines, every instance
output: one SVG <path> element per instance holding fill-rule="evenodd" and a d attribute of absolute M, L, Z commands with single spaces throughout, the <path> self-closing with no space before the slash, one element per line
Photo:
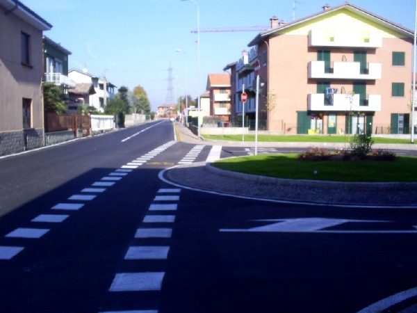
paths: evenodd
<path fill-rule="evenodd" d="M 311 111 L 375 112 L 381 111 L 381 95 L 366 95 L 366 99 L 361 104 L 359 95 L 335 93 L 333 103 L 325 104 L 324 93 L 313 93 L 308 96 L 307 107 Z"/>

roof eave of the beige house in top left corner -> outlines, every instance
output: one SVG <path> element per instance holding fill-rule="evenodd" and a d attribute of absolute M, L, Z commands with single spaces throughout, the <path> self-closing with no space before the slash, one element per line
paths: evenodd
<path fill-rule="evenodd" d="M 25 6 L 22 2 L 17 0 L 0 0 L 0 6 L 6 8 L 6 15 L 13 13 L 17 17 L 20 17 L 24 21 L 31 24 L 33 27 L 40 31 L 49 31 L 52 25 L 42 19 L 38 14 L 33 12 L 30 8 Z"/>

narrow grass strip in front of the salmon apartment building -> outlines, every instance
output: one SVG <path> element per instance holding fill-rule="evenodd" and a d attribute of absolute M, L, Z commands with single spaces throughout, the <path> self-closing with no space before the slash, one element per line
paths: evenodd
<path fill-rule="evenodd" d="M 242 141 L 242 135 L 204 135 L 204 138 L 217 141 Z M 259 135 L 259 142 L 270 143 L 346 143 L 350 146 L 352 136 L 323 136 L 323 135 Z M 245 135 L 245 141 L 255 141 L 254 135 Z M 373 137 L 374 143 L 410 143 L 409 139 Z"/>

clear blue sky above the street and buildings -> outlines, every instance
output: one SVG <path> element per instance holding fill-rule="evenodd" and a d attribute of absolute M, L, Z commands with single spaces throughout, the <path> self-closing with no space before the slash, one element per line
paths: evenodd
<path fill-rule="evenodd" d="M 293 19 L 293 0 L 196 0 L 200 29 L 269 25 L 276 16 Z M 204 93 L 208 73 L 222 72 L 237 61 L 258 32 L 200 33 L 200 79 L 197 82 L 197 6 L 180 0 L 22 0 L 53 25 L 44 35 L 72 52 L 70 68 L 102 77 L 117 87 L 147 91 L 152 109 L 165 104 L 168 67 L 172 67 L 174 99 L 186 92 Z M 344 0 L 300 0 L 295 18 Z M 352 0 L 351 3 L 414 29 L 415 0 Z M 183 53 L 176 52 L 181 49 Z"/>

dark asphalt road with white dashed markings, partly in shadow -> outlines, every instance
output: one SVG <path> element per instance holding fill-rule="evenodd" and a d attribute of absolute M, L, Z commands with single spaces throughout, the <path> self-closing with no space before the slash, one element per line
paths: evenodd
<path fill-rule="evenodd" d="M 416 211 L 159 179 L 212 149 L 153 122 L 0 159 L 0 312 L 358 312 L 416 287 Z"/>

